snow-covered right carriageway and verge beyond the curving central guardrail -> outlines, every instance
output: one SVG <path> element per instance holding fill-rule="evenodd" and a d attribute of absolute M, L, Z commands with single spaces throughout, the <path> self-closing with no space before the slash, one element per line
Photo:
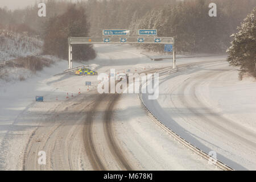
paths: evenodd
<path fill-rule="evenodd" d="M 234 169 L 256 169 L 256 81 L 217 61 L 160 78 L 146 106 L 175 133 Z M 180 66 L 181 67 L 181 66 Z"/>

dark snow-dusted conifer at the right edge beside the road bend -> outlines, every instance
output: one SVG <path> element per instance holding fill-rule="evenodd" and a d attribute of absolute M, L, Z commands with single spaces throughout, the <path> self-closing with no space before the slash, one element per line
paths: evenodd
<path fill-rule="evenodd" d="M 256 77 L 256 7 L 232 36 L 232 46 L 227 50 L 229 64 L 240 67 L 240 78 L 244 73 Z"/>

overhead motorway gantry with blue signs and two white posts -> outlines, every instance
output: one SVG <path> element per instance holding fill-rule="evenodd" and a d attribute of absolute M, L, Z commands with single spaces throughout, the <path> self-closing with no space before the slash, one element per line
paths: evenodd
<path fill-rule="evenodd" d="M 173 68 L 176 68 L 175 37 L 156 37 L 157 31 L 139 30 L 139 36 L 126 36 L 129 30 L 103 30 L 103 37 L 69 37 L 68 38 L 68 68 L 72 68 L 73 44 L 172 44 Z M 151 36 L 149 36 L 151 35 Z"/>

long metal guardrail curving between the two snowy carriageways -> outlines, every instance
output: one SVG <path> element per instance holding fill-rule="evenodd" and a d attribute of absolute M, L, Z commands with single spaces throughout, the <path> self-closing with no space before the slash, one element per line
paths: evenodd
<path fill-rule="evenodd" d="M 181 67 L 182 69 L 184 69 L 183 67 Z M 175 73 L 177 71 L 179 71 L 181 69 L 172 69 L 170 73 Z M 170 74 L 169 73 L 169 74 Z M 142 86 L 142 85 L 141 85 Z M 187 140 L 185 140 L 184 138 L 180 137 L 180 135 L 176 134 L 174 131 L 172 131 L 171 129 L 169 129 L 166 125 L 164 125 L 163 122 L 161 122 L 158 118 L 155 117 L 155 115 L 153 113 L 151 113 L 150 110 L 147 109 L 147 106 L 144 104 L 142 98 L 141 98 L 141 94 L 138 94 L 139 100 L 141 101 L 141 105 L 142 107 L 147 111 L 147 113 L 150 115 L 150 117 L 152 118 L 152 120 L 156 123 L 156 125 L 160 126 L 163 130 L 167 131 L 168 134 L 170 134 L 172 137 L 174 137 L 175 140 L 177 140 L 177 142 L 183 144 L 183 146 L 187 147 L 189 150 L 191 150 L 192 152 L 194 152 L 195 154 L 201 156 L 202 158 L 206 159 L 206 160 L 215 160 L 216 162 L 213 163 L 216 167 L 224 170 L 224 171 L 234 171 L 233 168 L 227 166 L 226 164 L 220 162 L 220 160 L 218 159 L 213 159 L 211 156 L 209 156 L 207 153 L 205 153 L 204 151 L 200 150 L 199 148 L 197 148 L 196 146 L 194 146 L 193 144 L 189 143 Z"/>

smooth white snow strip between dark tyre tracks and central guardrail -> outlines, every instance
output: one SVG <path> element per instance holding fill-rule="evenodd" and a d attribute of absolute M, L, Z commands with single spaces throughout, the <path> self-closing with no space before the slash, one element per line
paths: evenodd
<path fill-rule="evenodd" d="M 117 138 L 135 169 L 217 170 L 152 122 L 137 94 L 123 94 L 115 109 Z"/>

